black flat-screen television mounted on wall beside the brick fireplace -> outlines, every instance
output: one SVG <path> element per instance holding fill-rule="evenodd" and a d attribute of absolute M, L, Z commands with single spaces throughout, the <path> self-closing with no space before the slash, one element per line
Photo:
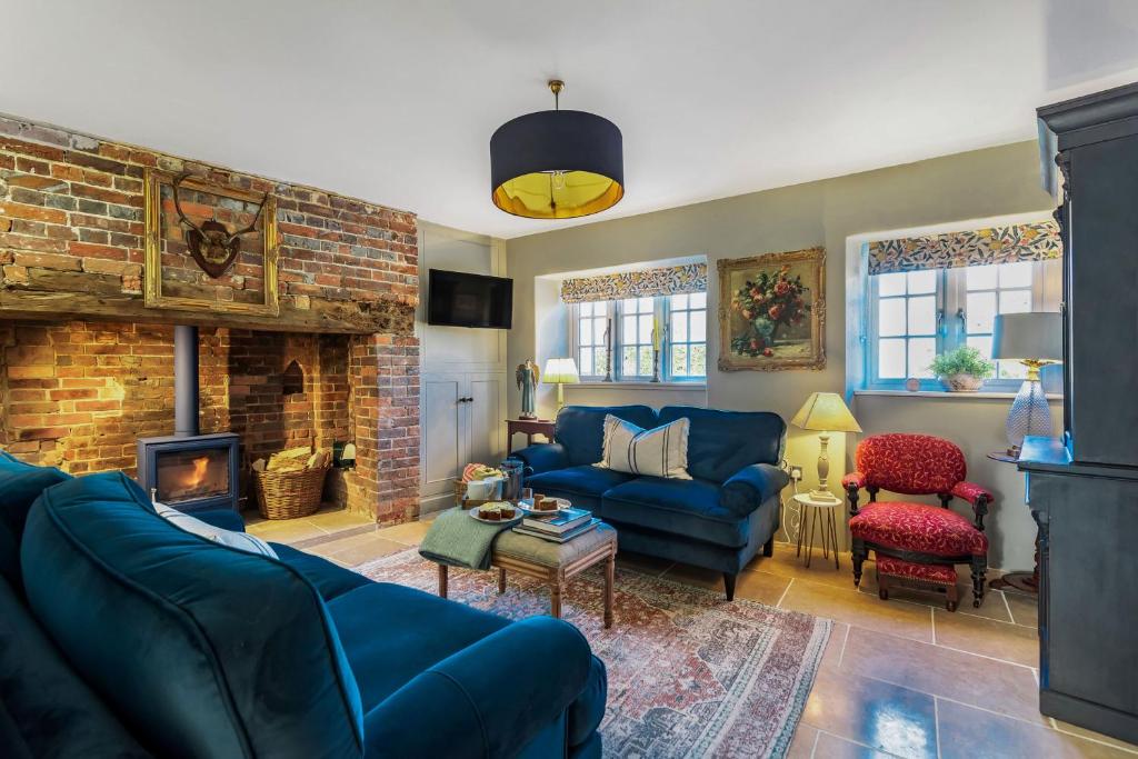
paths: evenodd
<path fill-rule="evenodd" d="M 510 329 L 513 280 L 431 269 L 427 286 L 427 323 Z"/>

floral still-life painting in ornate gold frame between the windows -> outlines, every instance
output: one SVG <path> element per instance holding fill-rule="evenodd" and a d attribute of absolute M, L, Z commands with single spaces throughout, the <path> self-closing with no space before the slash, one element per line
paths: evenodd
<path fill-rule="evenodd" d="M 824 248 L 719 259 L 720 371 L 824 369 Z"/>

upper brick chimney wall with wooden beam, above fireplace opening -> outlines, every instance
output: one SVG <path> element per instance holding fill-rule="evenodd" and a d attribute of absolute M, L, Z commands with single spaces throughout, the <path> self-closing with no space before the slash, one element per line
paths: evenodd
<path fill-rule="evenodd" d="M 307 328 L 319 313 L 355 331 L 411 333 L 419 292 L 413 214 L 2 116 L 0 311 L 30 307 L 20 295 L 71 292 L 80 298 L 51 303 L 105 317 L 83 310 L 98 307 L 92 295 L 113 297 L 124 313 L 149 317 L 152 311 L 140 311 L 148 167 L 275 196 L 281 315 L 273 329 Z M 189 196 L 183 207 L 196 221 L 212 217 L 232 230 L 251 218 L 248 207 Z M 264 278 L 258 256 L 242 254 L 226 275 L 212 280 L 187 254 L 174 218 L 167 189 L 164 281 L 171 288 L 222 302 L 257 300 L 253 290 Z M 247 247 L 258 245 L 254 234 Z"/>

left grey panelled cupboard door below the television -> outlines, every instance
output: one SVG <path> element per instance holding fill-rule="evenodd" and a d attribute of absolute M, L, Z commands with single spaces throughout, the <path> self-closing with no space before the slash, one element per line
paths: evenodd
<path fill-rule="evenodd" d="M 469 448 L 467 423 L 468 381 L 465 374 L 423 374 L 420 388 L 422 403 L 422 447 L 420 497 L 454 493 L 454 479 L 462 473 Z"/>

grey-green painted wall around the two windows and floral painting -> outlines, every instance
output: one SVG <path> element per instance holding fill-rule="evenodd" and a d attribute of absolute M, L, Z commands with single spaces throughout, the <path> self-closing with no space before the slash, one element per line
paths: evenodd
<path fill-rule="evenodd" d="M 550 288 L 535 281 L 537 277 L 706 255 L 711 274 L 708 305 L 714 314 L 718 308 L 717 259 L 820 245 L 827 251 L 826 369 L 769 373 L 712 369 L 708 377 L 709 406 L 769 410 L 789 419 L 809 393 L 844 389 L 846 239 L 883 230 L 1045 211 L 1052 199 L 1040 187 L 1038 162 L 1036 143 L 1019 142 L 509 240 L 509 271 L 516 281 L 509 365 L 542 355 L 541 330 L 535 329 L 535 321 L 539 312 L 547 321 L 547 299 L 552 296 Z M 629 178 L 628 191 L 636 191 L 634 176 Z M 535 298 L 538 291 L 539 300 Z M 709 319 L 711 365 L 718 356 L 714 322 Z M 1013 465 L 996 464 L 984 455 L 1003 444 L 1009 403 L 858 396 L 853 412 L 866 434 L 920 430 L 960 445 L 973 478 L 1000 496 L 991 519 L 990 563 L 1009 570 L 1030 569 L 1034 528 L 1023 505 L 1022 478 Z M 539 410 L 552 412 L 551 389 L 543 388 L 539 404 Z M 513 391 L 510 411 L 518 411 Z M 1053 411 L 1061 415 L 1057 407 Z M 849 440 L 851 446 L 855 443 Z M 791 430 L 787 457 L 806 467 L 806 487 L 811 485 L 816 452 L 814 435 Z M 846 444 L 841 436 L 834 436 L 831 460 L 841 462 L 844 456 Z M 831 480 L 836 479 L 832 472 Z"/>

